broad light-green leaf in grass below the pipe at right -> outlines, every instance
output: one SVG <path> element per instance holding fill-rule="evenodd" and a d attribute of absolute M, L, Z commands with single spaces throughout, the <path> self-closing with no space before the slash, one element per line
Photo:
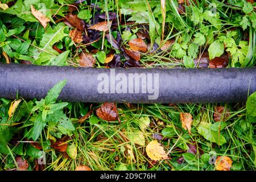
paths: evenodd
<path fill-rule="evenodd" d="M 211 129 L 210 123 L 200 122 L 199 126 L 197 127 L 197 131 L 210 142 L 217 143 L 220 146 L 226 143 L 226 139 L 223 137 L 223 135 L 219 134 L 218 131 Z"/>

